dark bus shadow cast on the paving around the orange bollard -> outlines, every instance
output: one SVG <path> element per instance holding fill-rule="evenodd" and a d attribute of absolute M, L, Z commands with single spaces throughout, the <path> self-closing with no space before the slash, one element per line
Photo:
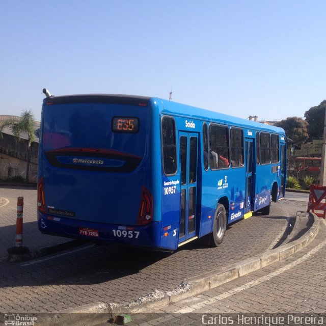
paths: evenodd
<path fill-rule="evenodd" d="M 24 223 L 23 229 L 23 246 L 30 251 L 69 241 L 68 238 L 41 234 L 37 222 Z M 0 277 L 0 288 L 119 282 L 121 278 L 139 276 L 144 269 L 171 255 L 115 244 L 87 242 L 52 255 L 23 262 L 8 262 L 7 249 L 15 247 L 15 230 L 15 225 L 0 227 L 0 238 L 3 240 L 0 257 L 0 274 L 3 276 Z"/>

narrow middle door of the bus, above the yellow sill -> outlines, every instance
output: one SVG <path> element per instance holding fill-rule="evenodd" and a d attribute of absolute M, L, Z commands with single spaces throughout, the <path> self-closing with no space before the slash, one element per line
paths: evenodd
<path fill-rule="evenodd" d="M 255 167 L 254 167 L 254 140 L 246 138 L 246 202 L 244 203 L 244 212 L 254 210 L 255 193 Z"/>

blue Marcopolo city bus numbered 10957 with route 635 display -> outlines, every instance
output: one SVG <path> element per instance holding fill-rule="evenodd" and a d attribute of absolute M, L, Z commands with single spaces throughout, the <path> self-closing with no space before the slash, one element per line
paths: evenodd
<path fill-rule="evenodd" d="M 38 165 L 42 233 L 174 251 L 284 198 L 282 128 L 153 97 L 51 96 Z"/>

